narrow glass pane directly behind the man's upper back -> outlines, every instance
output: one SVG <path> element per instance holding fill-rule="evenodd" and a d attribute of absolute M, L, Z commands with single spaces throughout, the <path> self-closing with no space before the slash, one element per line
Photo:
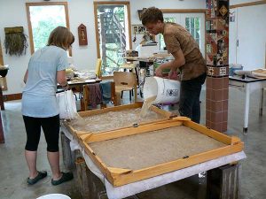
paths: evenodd
<path fill-rule="evenodd" d="M 185 28 L 200 46 L 200 18 L 185 18 Z"/>

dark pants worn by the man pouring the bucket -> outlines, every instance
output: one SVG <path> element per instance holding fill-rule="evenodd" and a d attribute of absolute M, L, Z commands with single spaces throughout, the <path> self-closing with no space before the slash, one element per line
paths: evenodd
<path fill-rule="evenodd" d="M 192 80 L 181 81 L 179 113 L 196 123 L 200 123 L 200 91 L 206 73 Z"/>

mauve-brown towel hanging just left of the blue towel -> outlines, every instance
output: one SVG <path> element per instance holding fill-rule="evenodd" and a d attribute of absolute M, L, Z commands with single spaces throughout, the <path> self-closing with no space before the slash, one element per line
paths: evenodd
<path fill-rule="evenodd" d="M 87 85 L 89 92 L 87 99 L 89 99 L 89 104 L 92 106 L 92 108 L 96 108 L 98 104 L 101 104 L 102 101 L 102 92 L 100 85 L 98 83 L 96 84 L 89 84 Z"/>

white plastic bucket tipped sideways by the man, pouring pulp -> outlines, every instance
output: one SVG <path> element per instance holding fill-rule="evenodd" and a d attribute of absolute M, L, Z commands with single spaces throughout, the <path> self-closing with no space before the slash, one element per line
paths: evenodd
<path fill-rule="evenodd" d="M 154 103 L 178 103 L 180 98 L 180 81 L 160 77 L 145 78 L 144 99 L 157 96 Z"/>

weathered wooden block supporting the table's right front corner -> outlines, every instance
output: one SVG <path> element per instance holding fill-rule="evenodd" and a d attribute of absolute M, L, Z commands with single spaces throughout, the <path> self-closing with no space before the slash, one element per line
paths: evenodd
<path fill-rule="evenodd" d="M 239 199 L 239 164 L 207 172 L 207 199 Z"/>

